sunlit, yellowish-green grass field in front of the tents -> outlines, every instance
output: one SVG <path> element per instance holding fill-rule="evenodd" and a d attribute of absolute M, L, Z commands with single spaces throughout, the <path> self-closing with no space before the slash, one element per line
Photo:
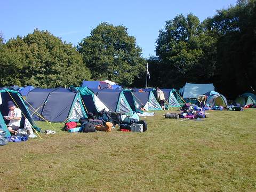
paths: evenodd
<path fill-rule="evenodd" d="M 143 133 L 67 133 L 52 123 L 54 135 L 0 147 L 0 191 L 256 191 L 255 113 L 193 121 L 157 111 L 141 118 Z"/>

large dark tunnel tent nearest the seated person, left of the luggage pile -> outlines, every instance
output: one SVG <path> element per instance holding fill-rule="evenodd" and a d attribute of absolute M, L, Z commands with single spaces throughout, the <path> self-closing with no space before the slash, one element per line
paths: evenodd
<path fill-rule="evenodd" d="M 86 117 L 80 93 L 61 87 L 30 91 L 27 105 L 36 121 L 67 122 Z"/>

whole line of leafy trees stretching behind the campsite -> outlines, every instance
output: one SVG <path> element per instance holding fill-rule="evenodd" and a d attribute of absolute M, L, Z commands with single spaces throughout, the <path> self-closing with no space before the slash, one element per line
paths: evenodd
<path fill-rule="evenodd" d="M 76 47 L 35 29 L 4 42 L 0 36 L 0 86 L 57 87 L 109 79 L 125 87 L 179 89 L 186 82 L 213 83 L 234 98 L 256 89 L 256 1 L 240 0 L 200 22 L 177 15 L 156 39 L 156 56 L 143 58 L 125 26 L 102 22 Z"/>

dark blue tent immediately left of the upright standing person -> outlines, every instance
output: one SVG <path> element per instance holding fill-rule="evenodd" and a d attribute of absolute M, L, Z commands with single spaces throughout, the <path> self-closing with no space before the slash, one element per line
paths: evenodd
<path fill-rule="evenodd" d="M 161 106 L 156 100 L 153 90 L 147 89 L 143 91 L 140 89 L 132 90 L 133 98 L 137 108 L 144 108 L 145 110 L 162 110 Z"/>

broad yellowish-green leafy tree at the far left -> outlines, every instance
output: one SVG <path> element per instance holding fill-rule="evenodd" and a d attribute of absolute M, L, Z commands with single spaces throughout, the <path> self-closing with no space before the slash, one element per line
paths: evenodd
<path fill-rule="evenodd" d="M 23 38 L 10 39 L 0 54 L 2 85 L 57 87 L 79 85 L 83 79 L 90 79 L 90 70 L 75 47 L 48 31 L 36 29 Z"/>

